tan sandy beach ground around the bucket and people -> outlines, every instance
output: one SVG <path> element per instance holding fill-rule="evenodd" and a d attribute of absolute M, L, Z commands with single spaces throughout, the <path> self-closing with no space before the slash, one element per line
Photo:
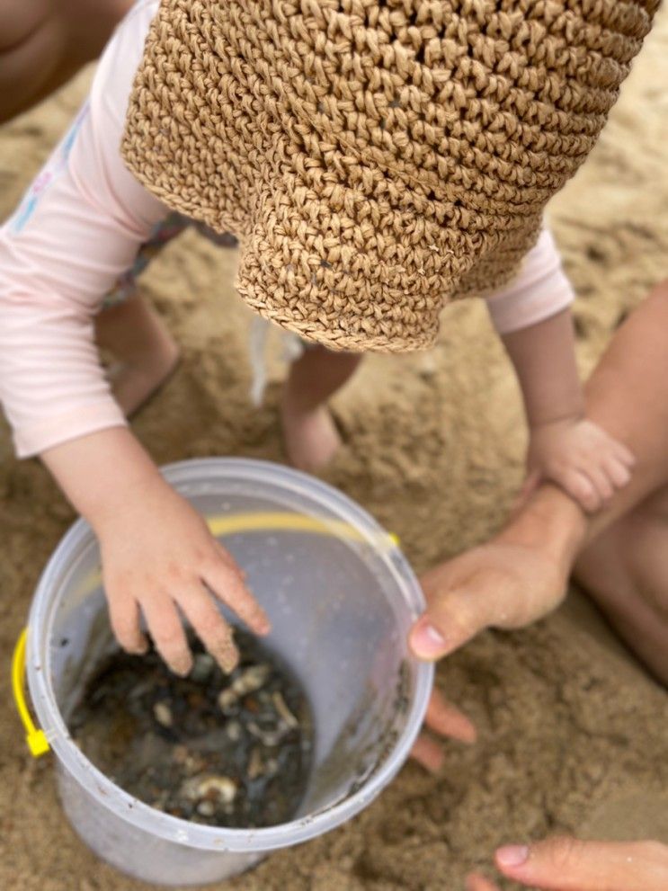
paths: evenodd
<path fill-rule="evenodd" d="M 85 92 L 86 78 L 0 131 L 0 214 L 13 209 Z M 555 201 L 583 371 L 620 318 L 666 273 L 668 9 L 659 15 L 595 154 Z M 135 423 L 161 462 L 200 455 L 281 461 L 278 383 L 248 398 L 248 316 L 233 252 L 188 234 L 149 271 L 147 293 L 184 361 Z M 521 474 L 517 388 L 476 301 L 444 317 L 438 348 L 367 361 L 336 402 L 345 448 L 326 474 L 401 536 L 421 569 L 485 538 Z M 49 757 L 31 762 L 8 670 L 40 569 L 72 514 L 0 431 L 0 887 L 125 891 L 63 819 Z M 668 700 L 582 597 L 535 628 L 488 633 L 441 666 L 441 686 L 480 742 L 447 745 L 438 778 L 409 764 L 351 824 L 272 857 L 237 891 L 455 889 L 498 842 L 567 831 L 668 842 Z"/>

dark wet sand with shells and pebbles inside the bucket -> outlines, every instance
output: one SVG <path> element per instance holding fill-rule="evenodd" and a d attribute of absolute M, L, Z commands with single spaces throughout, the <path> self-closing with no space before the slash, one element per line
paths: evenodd
<path fill-rule="evenodd" d="M 186 678 L 155 651 L 114 652 L 69 729 L 99 770 L 149 806 L 211 826 L 281 824 L 306 790 L 310 708 L 281 659 L 245 632 L 235 637 L 241 659 L 230 675 L 194 637 Z"/>

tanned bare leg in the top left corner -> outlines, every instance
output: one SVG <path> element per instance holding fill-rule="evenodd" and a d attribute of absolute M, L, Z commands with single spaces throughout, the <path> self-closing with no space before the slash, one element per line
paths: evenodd
<path fill-rule="evenodd" d="M 102 51 L 132 0 L 3 0 L 0 123 L 52 93 Z"/>

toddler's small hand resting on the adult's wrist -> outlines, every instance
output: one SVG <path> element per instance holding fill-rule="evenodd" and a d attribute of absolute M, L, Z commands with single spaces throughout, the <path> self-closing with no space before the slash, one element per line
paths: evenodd
<path fill-rule="evenodd" d="M 570 418 L 534 427 L 527 455 L 526 495 L 542 480 L 561 486 L 588 512 L 600 511 L 631 477 L 635 459 L 586 418 Z"/>

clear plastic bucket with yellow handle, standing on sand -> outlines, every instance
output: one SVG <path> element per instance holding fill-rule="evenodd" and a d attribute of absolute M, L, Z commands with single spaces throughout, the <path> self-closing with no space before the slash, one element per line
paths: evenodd
<path fill-rule="evenodd" d="M 113 642 L 94 535 L 77 521 L 31 608 L 27 676 L 55 754 L 63 807 L 96 854 L 163 885 L 229 878 L 267 851 L 305 842 L 357 814 L 399 770 L 423 721 L 432 666 L 408 655 L 423 595 L 396 543 L 330 486 L 241 459 L 164 469 L 236 557 L 272 619 L 271 646 L 313 709 L 313 769 L 298 815 L 267 829 L 218 829 L 163 814 L 97 771 L 67 717 Z"/>

